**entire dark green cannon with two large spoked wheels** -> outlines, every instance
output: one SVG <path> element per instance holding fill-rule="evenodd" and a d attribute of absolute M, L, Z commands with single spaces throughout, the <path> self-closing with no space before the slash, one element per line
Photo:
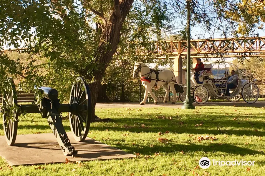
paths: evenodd
<path fill-rule="evenodd" d="M 60 104 L 58 92 L 50 87 L 35 87 L 34 104 L 18 104 L 16 87 L 10 79 L 10 87 L 2 95 L 3 127 L 6 142 L 13 145 L 16 140 L 18 116 L 22 113 L 40 113 L 46 118 L 64 155 L 76 155 L 62 125 L 62 112 L 68 112 L 72 134 L 76 141 L 87 137 L 91 121 L 91 99 L 89 87 L 82 77 L 73 83 L 69 104 Z M 31 97 L 32 98 L 32 97 Z"/>

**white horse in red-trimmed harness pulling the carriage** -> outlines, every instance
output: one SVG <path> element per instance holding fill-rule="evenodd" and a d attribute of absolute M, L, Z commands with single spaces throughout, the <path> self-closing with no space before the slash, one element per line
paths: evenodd
<path fill-rule="evenodd" d="M 176 82 L 174 73 L 171 72 L 170 70 L 160 70 L 158 71 L 158 73 L 159 73 L 158 74 L 159 80 L 163 80 L 163 81 L 157 81 L 157 75 L 155 74 L 155 71 L 153 69 L 150 69 L 147 65 L 143 63 L 135 62 L 134 72 L 132 76 L 137 77 L 139 74 L 139 76 L 141 77 L 142 84 L 145 87 L 145 97 L 143 101 L 140 102 L 141 105 L 145 104 L 146 99 L 148 97 L 148 92 L 153 97 L 155 104 L 158 103 L 157 98 L 155 97 L 155 94 L 154 92 L 152 92 L 152 89 L 151 89 L 152 87 L 155 87 L 155 86 L 157 87 L 163 86 L 166 92 L 165 97 L 164 97 L 164 103 L 168 102 L 168 94 L 169 94 L 168 85 L 170 86 L 173 92 L 172 104 L 176 103 L 177 94 L 175 90 L 175 84 L 170 83 L 170 82 Z"/>

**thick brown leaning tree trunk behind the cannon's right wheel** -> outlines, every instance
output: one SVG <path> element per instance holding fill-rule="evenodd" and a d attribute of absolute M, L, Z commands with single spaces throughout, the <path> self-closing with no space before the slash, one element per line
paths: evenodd
<path fill-rule="evenodd" d="M 120 41 L 122 24 L 130 11 L 132 3 L 133 0 L 122 0 L 121 2 L 115 0 L 112 16 L 105 25 L 104 30 L 102 30 L 97 53 L 95 53 L 96 62 L 98 64 L 97 70 L 93 72 L 95 82 L 89 85 L 91 94 L 92 121 L 95 121 L 95 106 L 101 79 L 105 73 L 107 65 L 110 63 L 112 56 L 117 50 L 117 46 Z"/>

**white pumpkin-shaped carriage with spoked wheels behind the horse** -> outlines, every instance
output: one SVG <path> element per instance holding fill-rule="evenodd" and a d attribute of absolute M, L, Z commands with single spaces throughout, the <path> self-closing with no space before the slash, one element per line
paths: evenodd
<path fill-rule="evenodd" d="M 217 71 L 217 74 L 213 74 L 213 70 Z M 228 77 L 224 78 L 224 70 L 228 74 L 235 70 L 238 75 L 235 88 L 227 89 Z M 226 91 L 230 92 L 230 96 L 225 96 Z M 179 97 L 181 101 L 185 100 L 185 88 Z M 229 62 L 213 62 L 199 72 L 196 80 L 195 72 L 191 74 L 191 97 L 198 104 L 204 104 L 209 97 L 226 98 L 231 102 L 237 102 L 242 97 L 247 103 L 255 103 L 259 98 L 259 89 L 247 78 L 243 79 L 242 72 L 236 65 Z"/>

